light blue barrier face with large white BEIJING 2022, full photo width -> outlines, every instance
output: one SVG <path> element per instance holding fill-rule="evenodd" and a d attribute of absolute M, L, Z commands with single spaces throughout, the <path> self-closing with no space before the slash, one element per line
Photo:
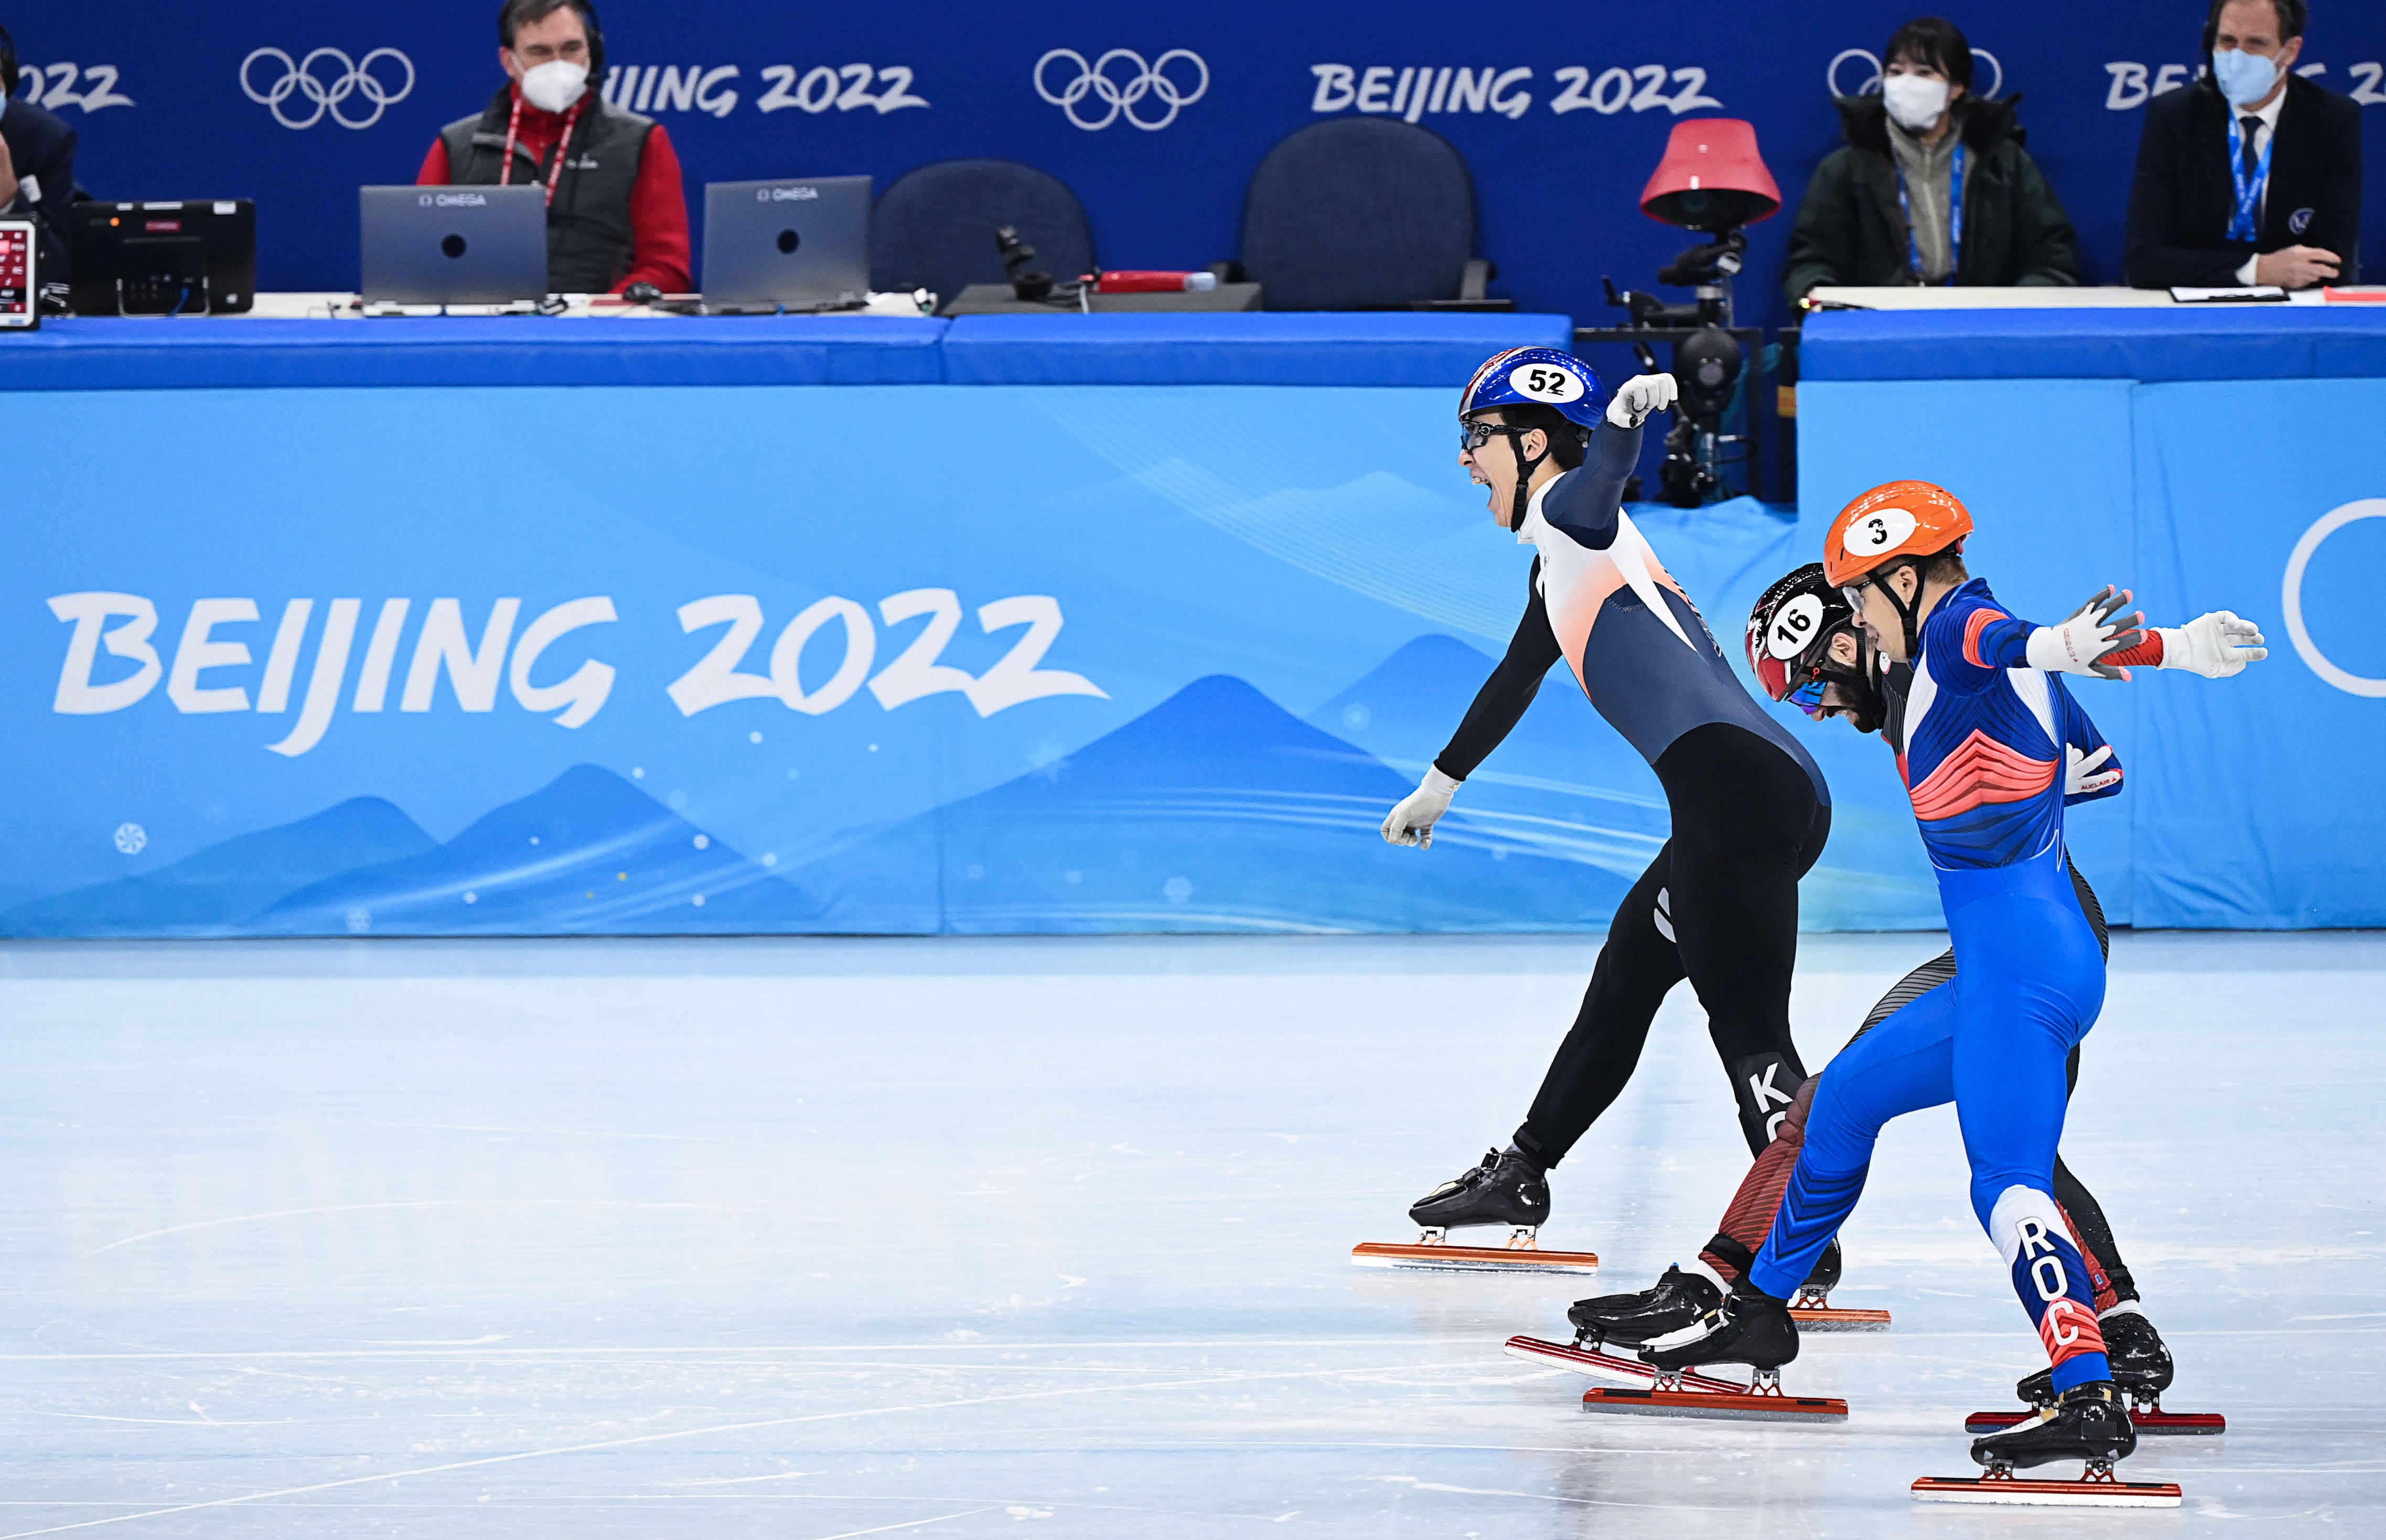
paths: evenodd
<path fill-rule="evenodd" d="M 2269 629 L 2240 679 L 2081 691 L 2131 772 L 2073 820 L 2116 920 L 2386 923 L 2386 825 L 2348 772 L 2386 756 L 2362 622 L 2386 381 L 1813 389 L 1964 491 L 2016 610 L 2119 579 L 2157 620 Z M 45 453 L 0 570 L 0 934 L 1603 927 L 1668 818 L 1563 675 L 1429 851 L 1377 837 L 1525 603 L 1448 410 L 1288 386 L 14 396 Z M 126 479 L 126 422 L 172 474 Z M 477 424 L 527 453 L 453 448 Z M 639 453 L 582 470 L 558 446 L 592 431 Z M 1639 517 L 1737 656 L 1823 515 Z M 1806 923 L 1935 925 L 1890 756 L 1797 732 L 1835 791 Z"/>

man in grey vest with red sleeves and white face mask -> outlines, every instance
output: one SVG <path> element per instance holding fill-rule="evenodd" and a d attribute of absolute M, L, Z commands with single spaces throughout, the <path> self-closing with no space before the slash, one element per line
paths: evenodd
<path fill-rule="evenodd" d="M 687 195 L 670 136 L 604 100 L 604 33 L 589 0 L 506 0 L 496 14 L 506 86 L 439 131 L 420 186 L 546 188 L 546 288 L 694 288 Z"/>

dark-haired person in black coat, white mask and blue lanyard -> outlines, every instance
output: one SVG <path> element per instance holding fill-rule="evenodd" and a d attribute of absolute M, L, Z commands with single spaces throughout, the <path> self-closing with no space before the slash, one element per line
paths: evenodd
<path fill-rule="evenodd" d="M 1823 284 L 2078 284 L 2071 217 L 2021 148 L 2014 103 L 1971 93 L 1954 21 L 1906 21 L 1883 57 L 1880 95 L 1840 98 L 1847 145 L 1806 184 L 1790 303 Z"/>

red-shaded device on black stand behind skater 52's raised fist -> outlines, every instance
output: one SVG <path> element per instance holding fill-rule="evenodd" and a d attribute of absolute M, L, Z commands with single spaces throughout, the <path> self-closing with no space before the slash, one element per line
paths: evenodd
<path fill-rule="evenodd" d="M 1673 429 L 1665 434 L 1665 465 L 1658 479 L 1675 508 L 1696 508 L 1723 486 L 1720 467 L 1732 462 L 1725 446 L 1747 443 L 1747 434 L 1725 431 L 1725 412 L 1739 393 L 1749 367 L 1747 350 L 1732 336 L 1732 279 L 1749 253 L 1747 224 L 1780 212 L 1780 188 L 1756 153 L 1756 129 L 1732 117 L 1701 117 L 1673 126 L 1665 160 L 1642 188 L 1642 212 L 1706 236 L 1656 272 L 1670 288 L 1689 288 L 1687 305 L 1668 305 L 1653 293 L 1620 291 L 1615 279 L 1601 279 L 1608 305 L 1625 310 L 1634 329 L 1687 331 L 1673 343 L 1673 379 L 1680 386 Z M 1639 343 L 1642 365 L 1656 370 L 1656 355 Z M 1739 455 L 1742 460 L 1747 455 Z"/>

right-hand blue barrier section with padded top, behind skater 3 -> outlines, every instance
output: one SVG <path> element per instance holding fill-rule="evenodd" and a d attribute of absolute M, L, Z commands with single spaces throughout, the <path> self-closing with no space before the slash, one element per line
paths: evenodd
<path fill-rule="evenodd" d="M 1801 551 L 1921 477 L 2016 613 L 2116 582 L 2157 625 L 2260 620 L 2271 658 L 2238 679 L 2076 691 L 2131 768 L 2076 815 L 2081 868 L 2138 925 L 2386 923 L 2386 803 L 2348 775 L 2386 753 L 2386 305 L 2078 298 L 1813 315 Z"/>

